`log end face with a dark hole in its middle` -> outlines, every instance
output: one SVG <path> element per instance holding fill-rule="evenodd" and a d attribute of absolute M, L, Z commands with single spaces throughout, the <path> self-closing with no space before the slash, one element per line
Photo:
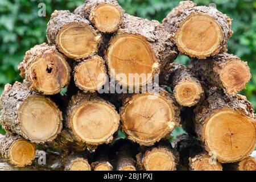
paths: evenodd
<path fill-rule="evenodd" d="M 56 94 L 69 84 L 71 68 L 60 53 L 45 52 L 29 67 L 31 88 L 43 94 Z"/>

